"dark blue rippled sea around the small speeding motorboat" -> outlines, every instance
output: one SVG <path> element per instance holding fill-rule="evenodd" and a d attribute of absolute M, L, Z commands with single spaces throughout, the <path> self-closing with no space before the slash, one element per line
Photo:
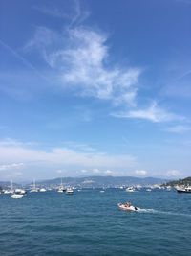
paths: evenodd
<path fill-rule="evenodd" d="M 145 210 L 118 210 L 117 203 L 127 200 Z M 0 255 L 188 256 L 191 194 L 110 189 L 0 195 Z"/>

